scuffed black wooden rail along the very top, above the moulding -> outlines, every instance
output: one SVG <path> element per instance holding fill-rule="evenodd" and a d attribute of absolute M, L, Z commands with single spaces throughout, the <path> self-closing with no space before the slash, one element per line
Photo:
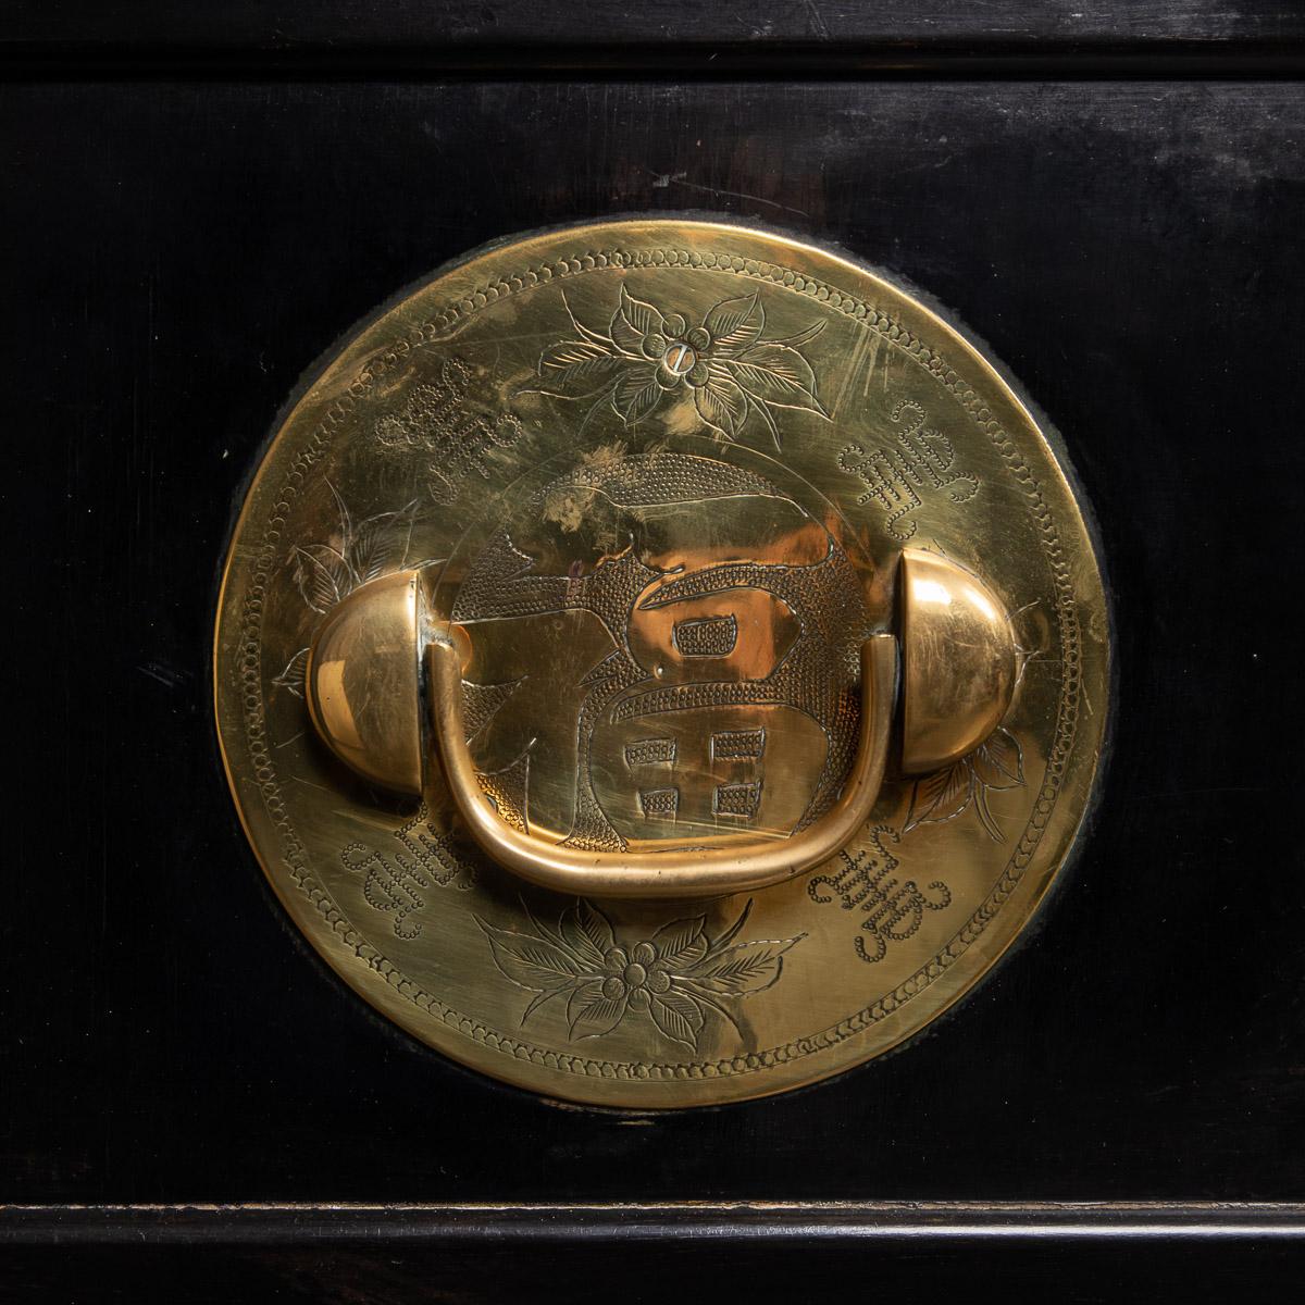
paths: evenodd
<path fill-rule="evenodd" d="M 128 8 L 89 0 L 17 0 L 0 34 L 12 42 L 127 46 L 334 48 L 442 44 L 596 44 L 667 42 L 733 44 L 818 42 L 1282 42 L 1305 35 L 1305 13 L 1289 0 L 757 0 L 579 7 L 531 0 L 367 0 L 268 5 L 227 0 L 176 5 L 140 0 Z"/>

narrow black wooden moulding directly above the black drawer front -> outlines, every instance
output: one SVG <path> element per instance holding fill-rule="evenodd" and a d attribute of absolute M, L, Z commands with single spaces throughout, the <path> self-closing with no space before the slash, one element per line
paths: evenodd
<path fill-rule="evenodd" d="M 598 30 L 598 29 L 595 29 Z M 0 78 L 348 80 L 402 78 L 1005 78 L 1182 80 L 1305 76 L 1305 30 L 1275 40 L 1161 37 L 808 38 L 765 40 L 512 42 L 22 39 L 0 21 Z"/>

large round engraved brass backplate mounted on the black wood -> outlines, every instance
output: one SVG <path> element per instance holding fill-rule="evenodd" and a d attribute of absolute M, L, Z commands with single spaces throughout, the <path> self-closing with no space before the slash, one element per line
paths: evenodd
<path fill-rule="evenodd" d="M 804 643 L 847 675 L 857 639 L 894 629 L 907 545 L 974 570 L 1011 613 L 1013 706 L 955 766 L 890 776 L 846 853 L 763 891 L 549 895 L 488 864 L 433 790 L 419 803 L 369 788 L 307 718 L 305 650 L 325 615 L 369 577 L 420 565 L 470 637 L 471 745 L 505 818 L 527 808 L 553 839 L 586 822 L 630 843 L 680 827 L 683 844 L 694 822 L 784 837 L 821 784 L 837 790 L 822 767 L 848 763 L 818 703 L 707 693 L 613 722 L 599 710 L 628 676 L 613 621 L 629 646 L 680 659 L 672 694 L 692 693 L 685 677 L 756 685 Z M 630 559 L 658 585 L 736 572 L 672 620 L 612 596 L 603 577 Z M 514 607 L 522 576 L 589 598 Z M 758 649 L 748 632 L 762 626 Z M 936 312 L 773 234 L 604 222 L 474 254 L 331 358 L 240 514 L 215 692 L 268 877 L 356 992 L 521 1087 L 686 1107 L 877 1056 L 1010 946 L 1087 808 L 1107 607 L 1065 468 Z"/>

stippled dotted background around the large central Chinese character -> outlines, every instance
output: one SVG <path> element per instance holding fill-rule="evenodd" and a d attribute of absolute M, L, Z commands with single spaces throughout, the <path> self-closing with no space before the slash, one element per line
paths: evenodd
<path fill-rule="evenodd" d="M 760 496 L 796 509 L 796 504 L 761 476 L 714 459 L 660 450 L 613 454 L 599 466 L 569 471 L 534 495 L 521 515 L 529 522 L 547 515 L 551 506 L 561 515 L 579 512 L 577 489 L 592 489 L 603 502 L 626 509 L 740 496 Z M 638 551 L 622 551 L 602 559 L 589 574 L 576 576 L 569 570 L 566 574 L 538 570 L 505 526 L 470 560 L 453 603 L 454 621 L 474 628 L 479 621 L 582 611 L 596 616 L 612 639 L 611 652 L 573 685 L 585 692 L 577 706 L 574 732 L 574 817 L 564 846 L 626 850 L 594 784 L 592 740 L 603 718 L 624 723 L 703 707 L 795 707 L 821 728 L 827 743 L 814 792 L 796 829 L 806 827 L 829 809 L 853 750 L 857 709 L 848 669 L 855 664 L 864 613 L 851 561 L 827 532 L 825 539 L 825 555 L 809 565 L 727 561 L 688 574 L 681 574 L 680 566 L 663 573 L 646 564 Z M 713 666 L 705 679 L 642 688 L 649 683 L 651 667 L 641 663 L 630 643 L 636 608 L 647 613 L 684 600 L 719 600 L 740 590 L 774 595 L 793 615 L 801 637 L 778 666 L 753 679 L 724 679 L 720 668 Z M 696 633 L 685 637 L 686 629 Z M 714 633 L 703 637 L 702 632 Z M 706 660 L 728 655 L 736 638 L 737 622 L 732 615 L 677 621 L 672 632 L 672 643 L 684 656 Z M 646 817 L 654 813 L 647 804 L 642 804 L 642 810 Z M 655 810 L 669 816 L 668 808 Z M 713 804 L 713 810 L 740 814 L 719 803 Z"/>

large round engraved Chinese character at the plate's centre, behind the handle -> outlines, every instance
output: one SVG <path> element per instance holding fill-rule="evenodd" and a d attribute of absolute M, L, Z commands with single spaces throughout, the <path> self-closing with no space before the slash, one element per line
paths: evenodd
<path fill-rule="evenodd" d="M 752 509 L 739 506 L 744 502 Z M 658 531 L 673 530 L 676 513 L 694 525 L 692 514 L 701 517 L 705 505 L 726 544 L 727 510 L 754 534 L 778 522 L 780 543 L 749 544 L 760 560 L 718 561 L 719 548 L 688 561 L 683 552 L 668 556 Z M 587 572 L 579 561 L 568 564 L 566 549 L 586 545 L 569 543 L 566 531 L 578 522 L 607 529 L 603 513 L 609 538 L 600 542 L 596 564 Z M 867 619 L 852 564 L 821 522 L 732 465 L 619 450 L 547 485 L 518 515 L 527 534 L 530 522 L 560 529 L 562 552 L 549 555 L 543 543 L 523 551 L 505 526 L 470 561 L 452 619 L 475 639 L 482 622 L 492 633 L 506 621 L 587 613 L 592 660 L 578 676 L 565 666 L 549 673 L 536 664 L 506 684 L 465 681 L 474 709 L 468 741 L 479 737 L 480 756 L 495 753 L 495 727 L 505 722 L 499 763 L 485 765 L 495 774 L 482 774 L 504 820 L 519 829 L 539 825 L 530 757 L 543 758 L 555 779 L 565 775 L 570 795 L 543 827 L 585 850 L 626 851 L 630 837 L 673 837 L 671 826 L 685 820 L 709 833 L 743 823 L 792 834 L 829 809 L 855 749 L 853 681 Z M 726 557 L 739 556 L 722 547 Z M 703 616 L 703 604 L 715 611 Z M 744 647 L 736 646 L 744 628 L 736 611 L 753 613 Z M 514 646 L 529 643 L 523 633 Z M 573 656 L 570 643 L 564 655 Z M 812 763 L 771 788 L 765 724 L 780 718 L 790 737 L 801 726 L 812 740 Z M 555 797 L 556 786 L 544 796 Z"/>

